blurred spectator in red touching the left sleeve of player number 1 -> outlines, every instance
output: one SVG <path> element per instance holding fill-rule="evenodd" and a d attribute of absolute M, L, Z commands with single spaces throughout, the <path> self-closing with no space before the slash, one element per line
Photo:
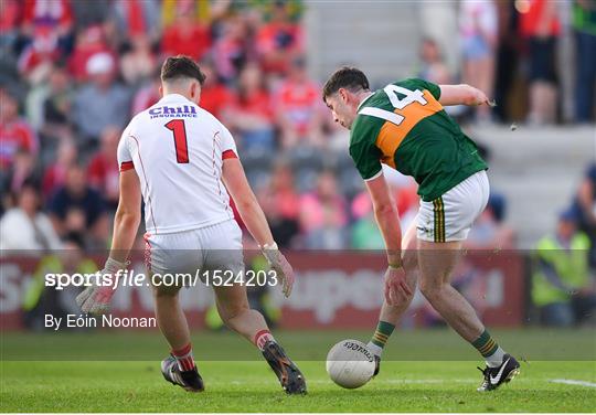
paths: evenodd
<path fill-rule="evenodd" d="M 102 132 L 99 151 L 95 153 L 87 169 L 88 183 L 103 194 L 106 208 L 116 212 L 118 208 L 118 181 L 120 173 L 116 153 L 121 130 L 115 126 L 108 126 Z"/>

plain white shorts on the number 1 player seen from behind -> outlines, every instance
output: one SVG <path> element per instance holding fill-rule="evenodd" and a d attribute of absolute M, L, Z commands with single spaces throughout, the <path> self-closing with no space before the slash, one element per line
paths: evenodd
<path fill-rule="evenodd" d="M 244 272 L 242 230 L 234 220 L 168 234 L 145 234 L 145 262 L 152 273 Z"/>

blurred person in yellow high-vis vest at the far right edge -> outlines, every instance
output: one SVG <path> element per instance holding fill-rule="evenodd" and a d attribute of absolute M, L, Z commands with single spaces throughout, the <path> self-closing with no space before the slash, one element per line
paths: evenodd
<path fill-rule="evenodd" d="M 596 307 L 586 256 L 589 240 L 577 232 L 576 221 L 576 212 L 563 212 L 555 235 L 545 236 L 538 244 L 532 300 L 547 326 L 581 323 Z"/>

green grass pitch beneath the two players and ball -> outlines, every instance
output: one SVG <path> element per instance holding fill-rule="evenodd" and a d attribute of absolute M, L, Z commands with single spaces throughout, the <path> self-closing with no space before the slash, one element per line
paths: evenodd
<path fill-rule="evenodd" d="M 496 392 L 478 393 L 476 387 L 481 376 L 476 365 L 481 361 L 473 350 L 469 351 L 467 344 L 460 344 L 446 330 L 397 333 L 386 351 L 381 374 L 352 391 L 342 390 L 329 380 L 323 358 L 336 341 L 365 339 L 366 333 L 279 333 L 278 339 L 300 365 L 309 387 L 306 396 L 287 396 L 258 353 L 231 333 L 193 337 L 206 386 L 200 394 L 187 393 L 163 381 L 158 355 L 166 353 L 167 348 L 158 333 L 62 333 L 60 337 L 2 333 L 0 412 L 593 412 L 596 408 L 593 330 L 498 331 L 496 334 L 511 343 L 517 355 L 525 352 L 522 372 Z M 75 344 L 81 348 L 75 350 Z M 312 347 L 309 349 L 308 344 Z M 438 352 L 441 345 L 446 351 Z M 563 360 L 565 353 L 568 360 Z M 224 354 L 228 359 L 219 359 Z M 73 359 L 65 360 L 66 355 Z M 135 360 L 134 355 L 142 360 Z M 424 359 L 425 355 L 432 360 Z M 451 355 L 458 360 L 448 360 Z"/>

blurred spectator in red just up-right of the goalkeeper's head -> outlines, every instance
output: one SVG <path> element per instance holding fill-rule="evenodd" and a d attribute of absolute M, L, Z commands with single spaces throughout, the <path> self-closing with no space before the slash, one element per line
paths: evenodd
<path fill-rule="evenodd" d="M 248 24 L 242 15 L 233 15 L 221 22 L 222 35 L 213 44 L 213 62 L 225 84 L 236 81 L 241 68 L 253 55 L 249 45 Z"/>

